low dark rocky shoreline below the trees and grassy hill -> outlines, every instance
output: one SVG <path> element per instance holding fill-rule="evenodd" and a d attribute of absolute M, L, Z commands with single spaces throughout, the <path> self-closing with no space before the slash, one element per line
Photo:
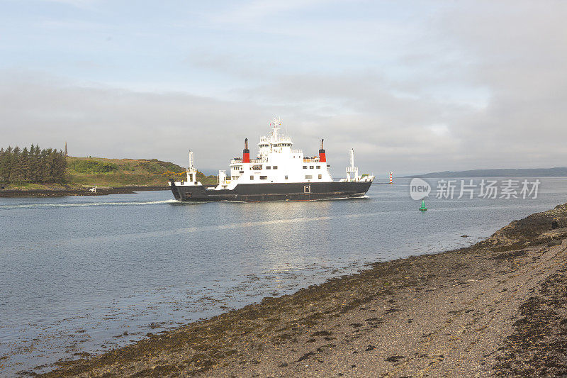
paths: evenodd
<path fill-rule="evenodd" d="M 164 186 L 128 186 L 128 187 L 97 187 L 96 192 L 88 187 L 72 187 L 57 189 L 0 189 L 0 198 L 13 197 L 62 197 L 62 196 L 106 196 L 108 194 L 133 194 L 135 191 L 169 190 Z"/>

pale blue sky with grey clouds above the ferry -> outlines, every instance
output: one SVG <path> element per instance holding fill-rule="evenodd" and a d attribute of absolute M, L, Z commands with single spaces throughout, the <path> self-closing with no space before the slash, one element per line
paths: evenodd
<path fill-rule="evenodd" d="M 214 172 L 277 115 L 336 176 L 567 165 L 566 1 L 0 5 L 3 147 Z"/>

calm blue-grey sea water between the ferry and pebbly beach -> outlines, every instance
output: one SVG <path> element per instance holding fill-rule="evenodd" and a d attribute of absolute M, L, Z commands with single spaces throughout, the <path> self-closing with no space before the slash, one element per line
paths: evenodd
<path fill-rule="evenodd" d="M 541 181 L 537 199 L 427 199 L 425 213 L 408 179 L 314 202 L 179 204 L 169 191 L 0 199 L 0 376 L 369 262 L 471 245 L 567 201 L 567 178 Z"/>

